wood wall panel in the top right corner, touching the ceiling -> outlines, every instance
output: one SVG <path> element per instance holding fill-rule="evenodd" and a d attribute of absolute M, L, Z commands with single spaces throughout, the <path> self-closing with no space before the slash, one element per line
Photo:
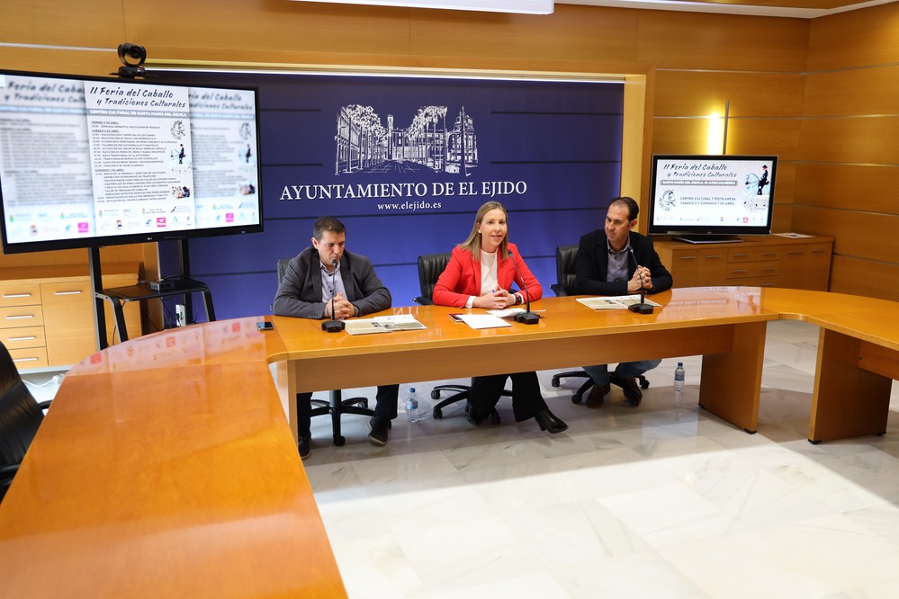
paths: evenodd
<path fill-rule="evenodd" d="M 882 4 L 811 20 L 808 70 L 899 62 L 899 4 Z"/>

